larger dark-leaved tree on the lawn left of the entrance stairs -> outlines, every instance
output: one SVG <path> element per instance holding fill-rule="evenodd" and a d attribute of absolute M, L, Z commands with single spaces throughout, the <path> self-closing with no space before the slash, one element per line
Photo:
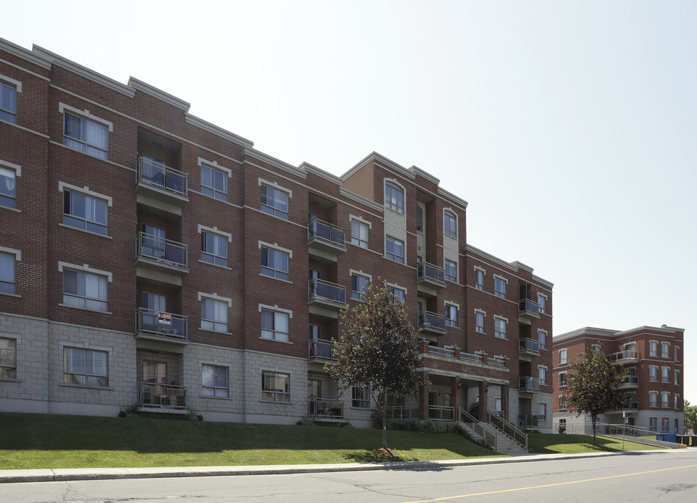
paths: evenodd
<path fill-rule="evenodd" d="M 387 447 L 387 391 L 397 398 L 418 397 L 425 384 L 417 368 L 417 334 L 404 303 L 392 295 L 380 279 L 370 284 L 355 307 L 342 313 L 341 341 L 335 342 L 334 359 L 326 365 L 343 391 L 353 385 L 367 386 L 381 407 L 383 449 Z"/>

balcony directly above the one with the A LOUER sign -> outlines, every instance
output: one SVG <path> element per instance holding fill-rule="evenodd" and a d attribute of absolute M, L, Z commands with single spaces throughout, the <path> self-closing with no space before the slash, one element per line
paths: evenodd
<path fill-rule="evenodd" d="M 181 277 L 189 272 L 188 251 L 189 247 L 182 243 L 140 232 L 135 236 L 136 273 L 181 286 Z"/>

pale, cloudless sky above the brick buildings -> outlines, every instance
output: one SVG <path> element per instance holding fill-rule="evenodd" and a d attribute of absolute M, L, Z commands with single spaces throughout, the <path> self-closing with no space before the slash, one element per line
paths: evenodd
<path fill-rule="evenodd" d="M 555 335 L 666 323 L 697 361 L 697 2 L 3 10 L 3 38 L 133 75 L 288 163 L 341 175 L 375 150 L 427 170 L 469 202 L 471 245 L 555 283 Z"/>

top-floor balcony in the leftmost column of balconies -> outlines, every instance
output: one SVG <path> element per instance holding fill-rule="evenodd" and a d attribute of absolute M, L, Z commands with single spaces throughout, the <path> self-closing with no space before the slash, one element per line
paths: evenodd
<path fill-rule="evenodd" d="M 135 165 L 135 194 L 138 203 L 158 210 L 182 214 L 182 207 L 189 203 L 188 174 L 147 157 L 138 157 Z"/>

